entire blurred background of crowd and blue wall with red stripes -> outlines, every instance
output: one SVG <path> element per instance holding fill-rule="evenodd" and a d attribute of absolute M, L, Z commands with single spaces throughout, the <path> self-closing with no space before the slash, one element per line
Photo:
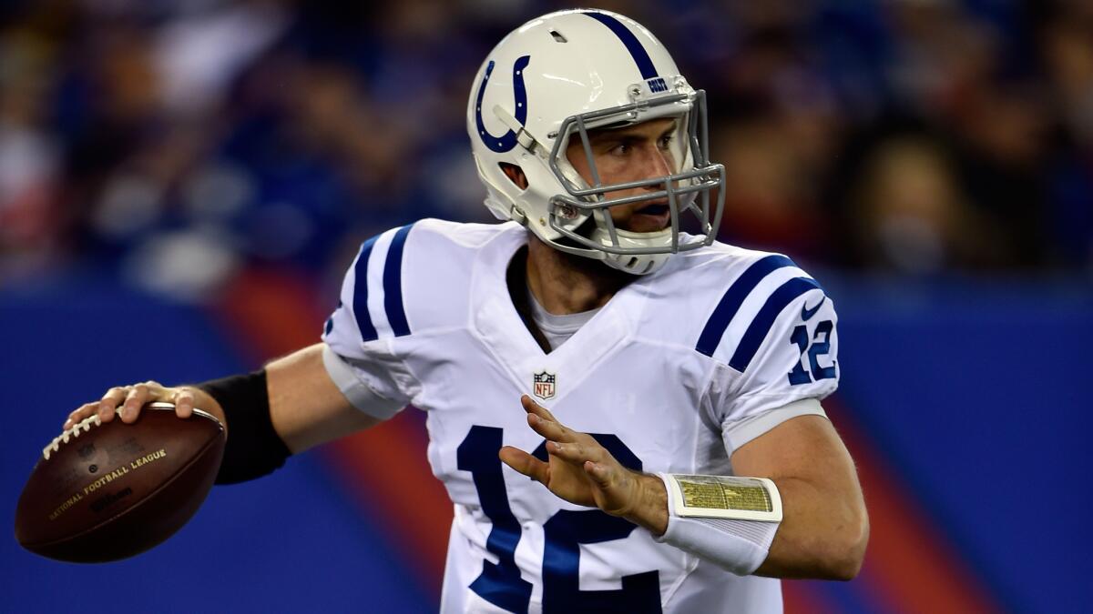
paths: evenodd
<path fill-rule="evenodd" d="M 721 238 L 792 255 L 839 309 L 828 412 L 873 536 L 858 579 L 785 582 L 787 610 L 1088 611 L 1093 5 L 598 5 L 709 92 Z M 78 404 L 314 342 L 362 239 L 487 221 L 470 82 L 556 8 L 0 3 L 0 524 Z M 118 564 L 0 540 L 0 611 L 78 586 L 131 611 L 434 611 L 451 512 L 423 449 L 406 412 L 214 488 Z"/>

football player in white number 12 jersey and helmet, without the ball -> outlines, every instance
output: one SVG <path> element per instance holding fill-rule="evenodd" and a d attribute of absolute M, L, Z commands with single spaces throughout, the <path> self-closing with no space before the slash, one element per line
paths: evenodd
<path fill-rule="evenodd" d="M 444 612 L 779 612 L 778 578 L 849 579 L 869 524 L 821 401 L 837 319 L 789 258 L 715 240 L 704 93 L 607 11 L 532 20 L 470 88 L 503 223 L 365 241 L 321 342 L 259 371 L 110 389 L 228 430 L 219 481 L 427 414 L 455 506 Z"/>

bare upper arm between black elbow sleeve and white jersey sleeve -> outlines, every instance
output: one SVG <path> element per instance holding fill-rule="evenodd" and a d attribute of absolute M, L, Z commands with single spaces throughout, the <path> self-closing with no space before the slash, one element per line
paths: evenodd
<path fill-rule="evenodd" d="M 273 428 L 293 453 L 380 422 L 353 406 L 331 380 L 316 343 L 266 366 Z"/>

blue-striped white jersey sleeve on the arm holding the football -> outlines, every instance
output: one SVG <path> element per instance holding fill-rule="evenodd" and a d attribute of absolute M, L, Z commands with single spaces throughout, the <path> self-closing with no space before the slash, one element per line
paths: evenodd
<path fill-rule="evenodd" d="M 387 231 L 361 246 L 322 332 L 331 379 L 357 409 L 380 418 L 411 403 L 421 390 L 396 343 L 410 333 L 402 260 L 411 228 Z M 375 395 L 388 402 L 377 403 Z"/>

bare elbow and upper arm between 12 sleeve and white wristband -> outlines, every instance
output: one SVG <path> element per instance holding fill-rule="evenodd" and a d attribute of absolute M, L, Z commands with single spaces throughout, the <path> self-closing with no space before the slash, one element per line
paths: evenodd
<path fill-rule="evenodd" d="M 848 580 L 861 567 L 869 518 L 854 461 L 831 423 L 815 415 L 786 421 L 732 454 L 737 475 L 769 477 L 783 520 L 755 574 Z"/>

